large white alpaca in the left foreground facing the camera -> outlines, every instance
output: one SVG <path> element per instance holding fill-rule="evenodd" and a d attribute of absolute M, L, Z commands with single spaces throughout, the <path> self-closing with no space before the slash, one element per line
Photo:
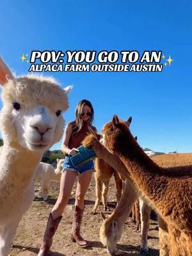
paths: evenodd
<path fill-rule="evenodd" d="M 14 77 L 0 58 L 3 109 L 0 128 L 0 255 L 10 253 L 13 237 L 34 198 L 35 170 L 45 150 L 61 139 L 67 94 L 54 79 Z"/>

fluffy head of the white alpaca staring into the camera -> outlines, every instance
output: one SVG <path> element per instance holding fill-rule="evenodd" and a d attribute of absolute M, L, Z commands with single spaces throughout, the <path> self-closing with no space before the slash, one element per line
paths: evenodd
<path fill-rule="evenodd" d="M 1 58 L 0 84 L 4 144 L 44 152 L 61 139 L 70 86 L 63 90 L 54 79 L 41 76 L 14 77 Z"/>

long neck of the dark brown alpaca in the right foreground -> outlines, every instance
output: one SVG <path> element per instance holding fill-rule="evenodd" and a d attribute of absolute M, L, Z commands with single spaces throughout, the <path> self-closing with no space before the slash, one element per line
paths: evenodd
<path fill-rule="evenodd" d="M 143 149 L 134 140 L 131 133 L 128 134 L 128 138 L 124 133 L 122 134 L 119 144 L 116 147 L 116 155 L 125 164 L 135 184 L 145 196 L 152 200 L 152 202 L 160 202 L 162 200 L 161 196 L 164 195 L 166 190 L 168 177 L 163 175 L 163 168 L 157 166 L 143 152 Z M 157 191 L 161 196 L 157 196 Z"/>

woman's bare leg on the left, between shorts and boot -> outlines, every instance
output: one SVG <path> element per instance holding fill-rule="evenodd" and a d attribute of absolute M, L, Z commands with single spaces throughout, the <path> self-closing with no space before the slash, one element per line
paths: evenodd
<path fill-rule="evenodd" d="M 77 172 L 75 171 L 65 171 L 61 174 L 60 194 L 51 211 L 51 215 L 54 220 L 63 214 L 63 210 L 68 203 L 76 177 Z"/>

